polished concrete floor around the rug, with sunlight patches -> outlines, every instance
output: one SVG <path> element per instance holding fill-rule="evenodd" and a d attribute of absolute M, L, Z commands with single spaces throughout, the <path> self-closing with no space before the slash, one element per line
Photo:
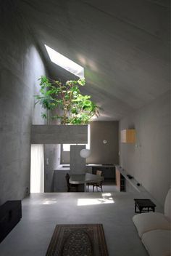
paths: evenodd
<path fill-rule="evenodd" d="M 136 193 L 35 193 L 0 244 L 1 256 L 45 256 L 57 224 L 102 223 L 109 256 L 147 256 L 133 225 Z"/>

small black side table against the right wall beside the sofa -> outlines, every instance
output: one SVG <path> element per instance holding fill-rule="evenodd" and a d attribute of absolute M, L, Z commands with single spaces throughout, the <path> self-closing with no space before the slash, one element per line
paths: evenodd
<path fill-rule="evenodd" d="M 135 201 L 135 212 L 141 213 L 141 212 L 149 212 L 153 211 L 155 212 L 156 204 L 152 202 L 150 199 L 134 199 Z M 137 212 L 137 207 L 139 211 Z"/>

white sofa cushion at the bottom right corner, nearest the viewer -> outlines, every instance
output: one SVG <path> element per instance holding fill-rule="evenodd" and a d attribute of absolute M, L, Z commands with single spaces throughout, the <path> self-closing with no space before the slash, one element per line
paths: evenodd
<path fill-rule="evenodd" d="M 171 231 L 155 230 L 143 234 L 142 242 L 150 256 L 170 256 Z"/>

